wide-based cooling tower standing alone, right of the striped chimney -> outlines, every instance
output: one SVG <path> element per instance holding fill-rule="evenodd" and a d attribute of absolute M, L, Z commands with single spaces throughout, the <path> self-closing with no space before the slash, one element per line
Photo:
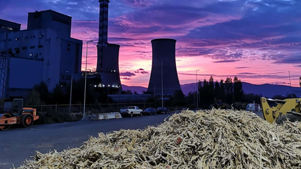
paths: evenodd
<path fill-rule="evenodd" d="M 166 97 L 166 95 L 171 96 L 175 91 L 181 90 L 175 63 L 176 40 L 154 39 L 151 43 L 153 48 L 153 62 L 147 92 L 154 93 L 155 90 L 156 95 L 162 94 L 161 74 L 163 73 L 163 95 L 164 97 Z M 161 63 L 163 65 L 162 71 Z"/>

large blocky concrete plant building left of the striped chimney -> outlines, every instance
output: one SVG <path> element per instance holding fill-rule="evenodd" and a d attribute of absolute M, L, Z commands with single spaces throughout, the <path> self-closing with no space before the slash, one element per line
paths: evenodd
<path fill-rule="evenodd" d="M 51 91 L 82 77 L 82 41 L 70 37 L 71 17 L 28 13 L 27 29 L 0 20 L 0 97 L 26 96 L 42 81 Z"/>

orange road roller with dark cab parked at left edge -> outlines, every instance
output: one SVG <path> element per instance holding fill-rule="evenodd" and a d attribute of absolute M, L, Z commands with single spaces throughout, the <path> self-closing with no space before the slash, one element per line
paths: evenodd
<path fill-rule="evenodd" d="M 12 124 L 21 124 L 27 128 L 37 119 L 39 116 L 36 115 L 36 109 L 23 107 L 22 98 L 5 99 L 3 114 L 0 114 L 0 130 L 8 130 Z"/>

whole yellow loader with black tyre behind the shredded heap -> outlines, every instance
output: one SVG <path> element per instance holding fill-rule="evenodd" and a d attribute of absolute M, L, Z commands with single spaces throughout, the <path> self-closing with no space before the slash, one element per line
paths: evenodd
<path fill-rule="evenodd" d="M 300 77 L 301 87 L 301 77 Z M 291 98 L 284 100 L 261 98 L 261 107 L 263 117 L 270 123 L 274 121 L 277 124 L 282 124 L 284 121 L 301 121 L 301 98 Z M 269 103 L 274 103 L 270 106 Z"/>

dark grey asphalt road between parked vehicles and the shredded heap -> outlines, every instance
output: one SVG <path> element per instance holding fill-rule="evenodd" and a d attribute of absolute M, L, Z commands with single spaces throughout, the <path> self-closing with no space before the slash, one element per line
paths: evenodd
<path fill-rule="evenodd" d="M 261 112 L 254 112 L 262 117 Z M 79 121 L 73 123 L 37 125 L 31 128 L 11 128 L 0 131 L 0 168 L 19 167 L 35 151 L 47 153 L 56 149 L 78 147 L 99 132 L 107 133 L 119 129 L 144 129 L 163 122 L 169 115 L 152 115 L 104 121 Z"/>

